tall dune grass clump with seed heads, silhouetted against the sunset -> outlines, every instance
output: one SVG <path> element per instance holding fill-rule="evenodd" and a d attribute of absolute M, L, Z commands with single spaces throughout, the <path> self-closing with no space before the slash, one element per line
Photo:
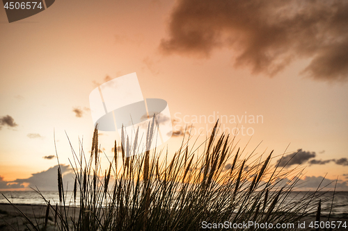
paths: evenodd
<path fill-rule="evenodd" d="M 113 160 L 102 169 L 96 128 L 90 155 L 82 147 L 79 153 L 72 149 L 75 179 L 70 199 L 58 167 L 60 202 L 51 205 L 42 196 L 46 216 L 54 214 L 54 230 L 201 230 L 203 221 L 298 223 L 318 207 L 319 191 L 286 202 L 301 176 L 299 169 L 271 165 L 272 152 L 242 159 L 244 150 L 235 137 L 218 136 L 217 129 L 216 122 L 199 146 L 203 151 L 182 142 L 171 160 L 168 151 L 156 149 L 129 156 L 136 144 L 115 142 Z M 284 183 L 285 178 L 291 180 Z M 47 219 L 40 225 L 29 221 L 28 228 L 46 230 Z"/>

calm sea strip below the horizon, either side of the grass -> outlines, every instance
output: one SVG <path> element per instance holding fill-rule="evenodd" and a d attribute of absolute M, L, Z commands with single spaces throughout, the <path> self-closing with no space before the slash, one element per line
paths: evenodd
<path fill-rule="evenodd" d="M 46 205 L 45 200 L 36 193 L 35 191 L 2 191 L 0 192 L 0 203 L 8 203 L 8 201 L 1 195 L 5 195 L 10 201 L 16 204 L 28 204 L 28 205 Z M 47 200 L 51 200 L 51 204 L 59 202 L 59 195 L 56 191 L 42 191 L 43 196 Z M 310 198 L 313 193 L 303 192 L 303 191 L 294 191 L 286 198 L 285 203 L 294 203 L 303 196 Z M 68 191 L 65 195 L 67 200 L 70 201 L 72 198 L 72 192 Z M 330 210 L 325 209 L 331 207 L 333 192 L 326 193 L 324 195 L 317 196 L 317 198 L 322 199 L 322 214 L 329 214 Z M 308 199 L 309 200 L 309 199 Z M 71 200 L 71 205 L 74 205 L 73 199 Z M 79 197 L 77 196 L 76 204 L 79 205 Z M 0 205 L 1 207 L 1 205 Z M 314 208 L 316 209 L 316 208 Z M 333 200 L 333 209 L 331 214 L 340 215 L 348 214 L 348 191 L 336 191 L 335 198 Z"/>

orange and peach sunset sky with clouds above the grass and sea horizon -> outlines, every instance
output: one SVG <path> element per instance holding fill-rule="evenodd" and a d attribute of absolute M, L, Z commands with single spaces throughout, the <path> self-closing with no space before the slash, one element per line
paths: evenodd
<path fill-rule="evenodd" d="M 68 177 L 69 140 L 90 150 L 90 92 L 136 72 L 168 103 L 162 148 L 186 126 L 204 142 L 220 118 L 245 155 L 274 150 L 309 188 L 348 191 L 347 20 L 346 1 L 60 0 L 13 23 L 0 9 L 0 190 L 55 190 L 56 151 Z M 118 138 L 101 132 L 106 156 Z"/>

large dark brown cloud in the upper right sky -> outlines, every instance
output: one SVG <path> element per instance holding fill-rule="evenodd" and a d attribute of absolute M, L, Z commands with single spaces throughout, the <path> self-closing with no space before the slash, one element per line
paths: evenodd
<path fill-rule="evenodd" d="M 308 58 L 302 74 L 347 80 L 347 21 L 348 1 L 180 0 L 159 49 L 209 58 L 228 48 L 235 66 L 269 76 Z"/>

